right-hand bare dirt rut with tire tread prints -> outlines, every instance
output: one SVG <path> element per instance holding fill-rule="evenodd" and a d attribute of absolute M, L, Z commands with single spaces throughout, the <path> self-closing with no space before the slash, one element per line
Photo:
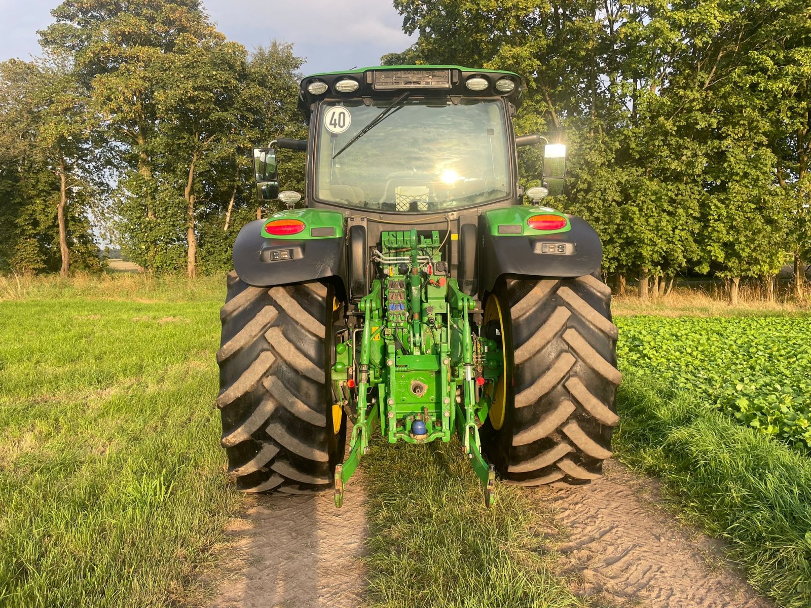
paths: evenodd
<path fill-rule="evenodd" d="M 559 565 L 573 575 L 575 593 L 609 606 L 774 608 L 739 573 L 719 565 L 721 542 L 657 507 L 657 482 L 614 460 L 604 472 L 589 486 L 526 490 L 557 511 L 567 535 L 556 547 Z"/>

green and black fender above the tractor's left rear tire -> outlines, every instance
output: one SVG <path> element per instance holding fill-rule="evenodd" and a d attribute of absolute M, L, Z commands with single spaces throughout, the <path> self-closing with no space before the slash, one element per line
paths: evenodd
<path fill-rule="evenodd" d="M 268 235 L 264 225 L 276 219 L 303 221 L 306 228 L 298 234 Z M 342 277 L 344 251 L 340 213 L 294 209 L 242 226 L 234 242 L 234 270 L 248 285 L 257 287 Z"/>

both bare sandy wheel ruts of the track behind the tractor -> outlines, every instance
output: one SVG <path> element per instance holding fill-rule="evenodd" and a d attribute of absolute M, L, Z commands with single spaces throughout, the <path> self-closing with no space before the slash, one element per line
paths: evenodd
<path fill-rule="evenodd" d="M 591 486 L 526 490 L 557 510 L 551 537 L 573 591 L 594 606 L 770 608 L 740 576 L 719 566 L 719 544 L 658 507 L 656 482 L 609 460 Z M 232 533 L 247 569 L 226 580 L 210 608 L 360 606 L 366 525 L 353 480 L 344 507 L 332 495 L 260 497 Z M 548 531 L 547 531 L 548 532 Z M 562 544 L 560 544 L 562 542 Z M 238 569 L 238 568 L 237 568 Z"/>

